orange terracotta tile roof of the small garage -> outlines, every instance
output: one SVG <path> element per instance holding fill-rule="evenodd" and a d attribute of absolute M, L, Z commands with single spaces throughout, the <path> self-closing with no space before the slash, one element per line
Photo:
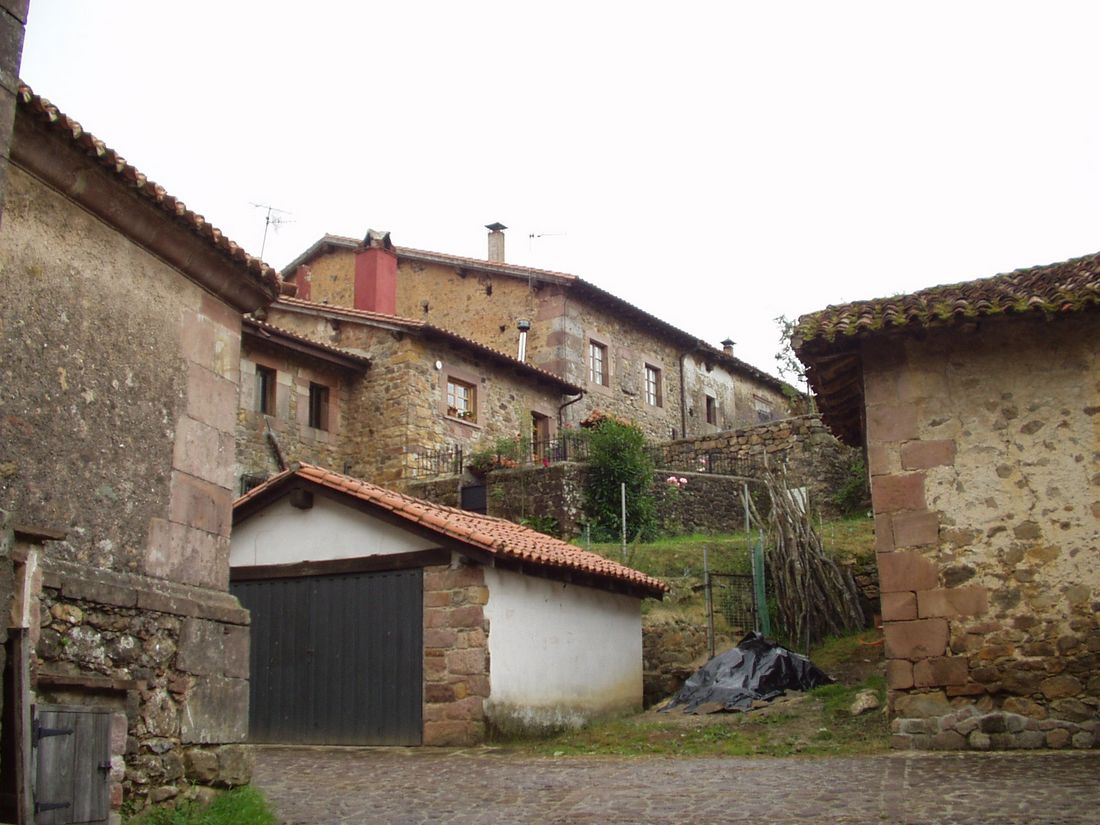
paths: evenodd
<path fill-rule="evenodd" d="M 575 570 L 624 582 L 656 597 L 660 597 L 669 590 L 659 579 L 514 521 L 414 498 L 312 464 L 298 464 L 273 475 L 258 487 L 238 498 L 233 508 L 241 508 L 292 477 L 304 479 L 383 507 L 409 522 L 428 527 L 493 556 L 530 561 L 543 566 Z"/>

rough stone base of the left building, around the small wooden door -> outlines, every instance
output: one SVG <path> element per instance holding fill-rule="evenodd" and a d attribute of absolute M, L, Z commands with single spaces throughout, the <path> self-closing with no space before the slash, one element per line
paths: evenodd
<path fill-rule="evenodd" d="M 36 700 L 112 710 L 111 803 L 240 785 L 249 614 L 228 593 L 43 560 Z"/>

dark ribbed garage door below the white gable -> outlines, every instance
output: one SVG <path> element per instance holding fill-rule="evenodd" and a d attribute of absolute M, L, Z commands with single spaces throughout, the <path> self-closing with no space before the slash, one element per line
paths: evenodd
<path fill-rule="evenodd" d="M 233 582 L 255 743 L 419 745 L 421 570 Z"/>

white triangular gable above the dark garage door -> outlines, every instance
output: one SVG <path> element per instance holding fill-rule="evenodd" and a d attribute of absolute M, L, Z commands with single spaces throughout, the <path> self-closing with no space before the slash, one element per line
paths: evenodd
<path fill-rule="evenodd" d="M 298 561 L 355 559 L 362 556 L 408 553 L 439 547 L 360 510 L 322 495 L 306 510 L 289 498 L 233 527 L 229 543 L 232 568 L 255 564 L 292 564 Z"/>

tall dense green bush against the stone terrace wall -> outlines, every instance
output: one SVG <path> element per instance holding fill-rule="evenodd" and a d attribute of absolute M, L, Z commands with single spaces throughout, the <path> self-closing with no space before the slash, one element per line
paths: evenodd
<path fill-rule="evenodd" d="M 648 541 L 657 535 L 653 462 L 646 437 L 634 425 L 603 418 L 586 430 L 588 472 L 584 510 L 596 541 L 622 535 L 620 487 L 626 484 L 626 526 L 630 538 Z"/>

